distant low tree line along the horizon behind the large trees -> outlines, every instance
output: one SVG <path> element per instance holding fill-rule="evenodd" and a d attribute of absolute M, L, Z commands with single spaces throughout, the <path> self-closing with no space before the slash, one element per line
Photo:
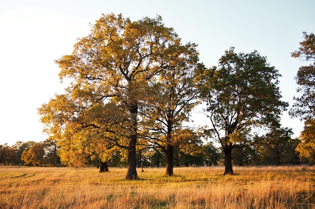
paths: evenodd
<path fill-rule="evenodd" d="M 295 149 L 300 143 L 298 139 L 287 139 L 279 143 L 268 144 L 263 147 L 244 146 L 232 151 L 232 164 L 246 165 L 287 165 L 311 163 L 303 156 L 299 158 L 299 152 Z M 29 165 L 29 166 L 64 166 L 61 165 L 58 156 L 59 147 L 53 140 L 43 142 L 17 142 L 13 146 L 0 145 L 0 164 L 5 165 Z M 224 164 L 224 156 L 221 148 L 214 146 L 213 142 L 199 145 L 192 153 L 185 153 L 180 149 L 174 151 L 175 166 L 218 166 Z M 142 150 L 136 154 L 137 167 L 163 167 L 167 164 L 166 154 L 160 149 Z M 87 166 L 100 166 L 99 159 L 91 160 L 87 156 Z M 107 166 L 124 167 L 127 161 L 117 151 Z"/>

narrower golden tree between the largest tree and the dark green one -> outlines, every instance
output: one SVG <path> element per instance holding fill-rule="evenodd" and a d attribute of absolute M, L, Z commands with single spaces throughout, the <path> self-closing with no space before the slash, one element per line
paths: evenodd
<path fill-rule="evenodd" d="M 181 45 L 179 39 L 169 46 L 167 56 L 171 60 L 149 85 L 151 96 L 143 115 L 149 121 L 145 134 L 153 146 L 166 153 L 165 175 L 172 176 L 174 150 L 188 148 L 188 144 L 191 149 L 198 140 L 192 129 L 184 127 L 184 122 L 189 121 L 192 109 L 199 103 L 196 74 L 203 65 L 198 63 L 196 45 Z"/>

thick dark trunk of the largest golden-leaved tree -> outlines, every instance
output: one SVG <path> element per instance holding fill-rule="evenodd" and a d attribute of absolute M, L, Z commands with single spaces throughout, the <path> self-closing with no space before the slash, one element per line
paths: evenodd
<path fill-rule="evenodd" d="M 136 170 L 136 141 L 137 136 L 131 136 L 128 146 L 128 168 L 127 168 L 127 175 L 126 179 L 134 180 L 138 179 L 138 174 Z"/>

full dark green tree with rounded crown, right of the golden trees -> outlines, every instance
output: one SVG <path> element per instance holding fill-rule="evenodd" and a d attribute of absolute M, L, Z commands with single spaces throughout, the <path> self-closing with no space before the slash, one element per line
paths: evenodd
<path fill-rule="evenodd" d="M 280 126 L 280 114 L 288 103 L 280 100 L 278 70 L 257 51 L 250 54 L 225 51 L 218 67 L 200 73 L 201 96 L 212 128 L 207 134 L 222 146 L 224 174 L 233 174 L 232 149 L 251 142 L 252 128 Z"/>

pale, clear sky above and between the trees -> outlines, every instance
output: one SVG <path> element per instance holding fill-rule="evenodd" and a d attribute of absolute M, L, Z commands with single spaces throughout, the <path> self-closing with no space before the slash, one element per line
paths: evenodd
<path fill-rule="evenodd" d="M 44 141 L 37 108 L 60 94 L 60 69 L 54 60 L 71 54 L 77 38 L 90 33 L 101 14 L 122 14 L 131 21 L 161 16 L 182 43 L 198 44 L 200 62 L 217 65 L 225 50 L 257 50 L 282 75 L 282 100 L 294 103 L 294 77 L 305 61 L 291 58 L 303 41 L 302 32 L 315 33 L 315 1 L 80 1 L 0 0 L 0 144 Z M 198 110 L 196 124 L 209 124 Z M 282 115 L 281 124 L 298 137 L 303 122 Z"/>

